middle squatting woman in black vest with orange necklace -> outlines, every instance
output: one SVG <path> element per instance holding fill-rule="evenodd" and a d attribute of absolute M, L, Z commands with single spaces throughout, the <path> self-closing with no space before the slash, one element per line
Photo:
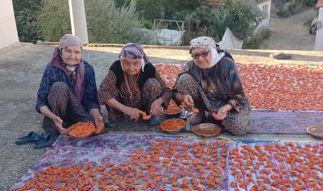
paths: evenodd
<path fill-rule="evenodd" d="M 98 93 L 101 105 L 109 112 L 106 126 L 113 127 L 123 113 L 137 121 L 142 112 L 151 115 L 149 125 L 159 124 L 160 106 L 167 109 L 172 91 L 150 63 L 140 44 L 128 43 L 102 81 Z"/>

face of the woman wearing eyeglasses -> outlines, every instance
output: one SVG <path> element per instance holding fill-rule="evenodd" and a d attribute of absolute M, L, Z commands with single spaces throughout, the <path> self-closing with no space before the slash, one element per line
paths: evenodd
<path fill-rule="evenodd" d="M 206 69 L 211 63 L 211 51 L 209 48 L 193 49 L 192 57 L 194 59 L 195 64 L 201 69 Z M 194 57 L 198 57 L 198 58 L 194 58 Z"/>

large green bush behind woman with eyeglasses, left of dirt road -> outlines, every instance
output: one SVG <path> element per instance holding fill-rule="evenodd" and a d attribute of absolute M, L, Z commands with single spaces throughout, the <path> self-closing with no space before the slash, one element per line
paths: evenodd
<path fill-rule="evenodd" d="M 192 13 L 185 11 L 174 14 L 176 20 L 185 21 L 184 44 L 199 36 L 213 37 L 216 42 L 229 27 L 236 37 L 245 40 L 253 36 L 255 28 L 263 20 L 262 11 L 252 1 L 224 0 L 219 10 L 212 13 L 207 6 L 196 8 Z"/>

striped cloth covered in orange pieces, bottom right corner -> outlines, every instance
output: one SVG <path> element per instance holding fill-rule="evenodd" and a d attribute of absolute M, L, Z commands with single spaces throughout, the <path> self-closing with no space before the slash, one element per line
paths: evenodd
<path fill-rule="evenodd" d="M 323 186 L 322 143 L 231 144 L 229 150 L 229 191 L 319 190 Z"/>

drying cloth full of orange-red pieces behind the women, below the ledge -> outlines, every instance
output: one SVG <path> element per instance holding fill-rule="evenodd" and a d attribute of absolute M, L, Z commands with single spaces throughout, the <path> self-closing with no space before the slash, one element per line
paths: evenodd
<path fill-rule="evenodd" d="M 323 66 L 236 65 L 252 109 L 323 111 Z M 155 65 L 170 88 L 183 66 Z"/>

